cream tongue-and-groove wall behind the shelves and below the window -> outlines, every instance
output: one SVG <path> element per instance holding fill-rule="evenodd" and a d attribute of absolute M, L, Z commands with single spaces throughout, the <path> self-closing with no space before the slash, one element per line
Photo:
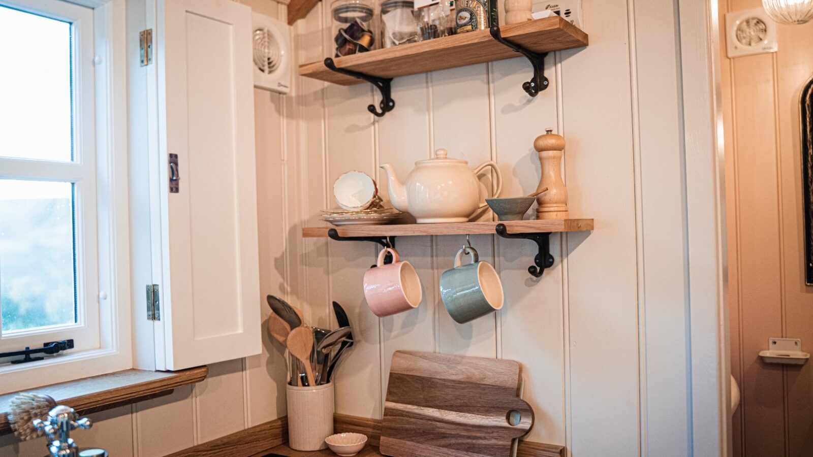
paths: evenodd
<path fill-rule="evenodd" d="M 284 6 L 249 3 L 285 17 Z M 255 91 L 261 291 L 288 298 L 320 327 L 335 326 L 332 300 L 348 311 L 356 344 L 337 371 L 337 412 L 380 418 L 395 350 L 502 357 L 524 366 L 524 398 L 537 416 L 532 441 L 563 444 L 576 457 L 719 454 L 713 442 L 693 442 L 700 435 L 693 416 L 716 410 L 706 411 L 689 388 L 696 385 L 695 395 L 702 388 L 691 363 L 704 364 L 703 376 L 720 365 L 713 350 L 692 347 L 700 330 L 691 324 L 711 316 L 701 336 L 713 342 L 720 307 L 715 299 L 693 302 L 689 282 L 708 272 L 690 270 L 690 260 L 711 265 L 712 276 L 719 265 L 711 249 L 689 244 L 693 211 L 713 215 L 716 207 L 714 170 L 703 165 L 714 159 L 702 141 L 713 136 L 711 123 L 698 116 L 684 130 L 686 94 L 711 86 L 702 65 L 687 65 L 706 56 L 680 53 L 706 39 L 708 5 L 693 2 L 700 10 L 690 13 L 687 3 L 585 0 L 590 46 L 551 54 L 550 89 L 533 100 L 520 88 L 530 76 L 524 59 L 398 78 L 396 108 L 378 121 L 366 111 L 379 99 L 370 85 L 295 78 L 290 97 Z M 328 7 L 320 2 L 295 24 L 299 63 L 332 54 Z M 688 77 L 700 87 L 685 90 Z M 465 237 L 398 238 L 402 258 L 423 281 L 424 302 L 385 319 L 372 315 L 361 290 L 376 255 L 372 243 L 300 237 L 303 225 L 318 224 L 319 211 L 333 206 L 330 189 L 342 172 L 380 178 L 378 165 L 389 162 L 404 176 L 438 147 L 472 167 L 495 160 L 503 195 L 528 194 L 539 179 L 533 139 L 546 127 L 567 140 L 571 216 L 595 219 L 595 230 L 551 237 L 556 262 L 539 280 L 526 270 L 533 242 L 472 237 L 506 289 L 506 306 L 493 316 L 455 324 L 437 293 Z M 691 194 L 689 178 L 711 187 Z M 699 282 L 695 289 L 715 290 Z M 263 355 L 216 364 L 207 381 L 171 397 L 101 413 L 106 420 L 77 439 L 120 450 L 117 456 L 158 456 L 285 415 L 280 346 L 264 338 Z M 0 437 L 0 453 L 41 454 L 10 443 Z"/>

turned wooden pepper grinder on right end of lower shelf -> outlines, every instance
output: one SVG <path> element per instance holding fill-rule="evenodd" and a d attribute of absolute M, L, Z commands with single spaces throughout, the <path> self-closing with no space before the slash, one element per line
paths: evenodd
<path fill-rule="evenodd" d="M 562 181 L 564 138 L 555 135 L 553 128 L 546 128 L 545 132 L 533 141 L 542 167 L 537 191 L 548 188 L 537 197 L 537 219 L 567 219 L 567 189 Z"/>

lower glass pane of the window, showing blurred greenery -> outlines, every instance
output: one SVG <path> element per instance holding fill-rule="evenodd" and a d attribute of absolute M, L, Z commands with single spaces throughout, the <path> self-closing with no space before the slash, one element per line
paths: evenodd
<path fill-rule="evenodd" d="M 76 322 L 73 185 L 0 180 L 2 332 Z"/>

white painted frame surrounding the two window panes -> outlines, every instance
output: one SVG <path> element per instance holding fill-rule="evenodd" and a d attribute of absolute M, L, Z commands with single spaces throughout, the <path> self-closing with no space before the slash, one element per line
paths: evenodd
<path fill-rule="evenodd" d="M 59 3 L 61 2 L 61 3 Z M 86 376 L 95 376 L 131 368 L 132 343 L 130 329 L 130 284 L 129 284 L 129 215 L 128 215 L 128 143 L 127 143 L 127 50 L 126 20 L 124 0 L 0 0 L 3 6 L 22 11 L 36 12 L 47 17 L 75 19 L 69 15 L 60 15 L 59 7 L 63 3 L 75 4 L 93 9 L 91 24 L 80 27 L 93 32 L 93 43 L 89 47 L 90 55 L 80 54 L 78 59 L 91 59 L 93 72 L 88 77 L 90 84 L 85 87 L 93 90 L 93 100 L 89 107 L 81 107 L 80 115 L 85 122 L 92 122 L 95 133 L 90 137 L 79 138 L 85 141 L 85 150 L 94 150 L 93 158 L 81 157 L 80 147 L 76 147 L 77 162 L 45 162 L 30 159 L 2 159 L 2 177 L 27 179 L 44 174 L 41 168 L 45 165 L 50 178 L 76 179 L 76 173 L 85 167 L 85 173 L 94 173 L 94 188 L 77 190 L 85 193 L 85 204 L 95 206 L 93 222 L 85 220 L 83 233 L 85 246 L 98 246 L 95 258 L 98 269 L 89 272 L 99 279 L 99 290 L 103 291 L 98 300 L 93 300 L 89 292 L 85 294 L 85 303 L 99 303 L 98 325 L 92 329 L 98 335 L 98 344 L 91 349 L 70 350 L 46 359 L 11 365 L 0 365 L 0 393 L 25 390 L 37 385 L 72 381 Z M 72 5 L 67 5 L 70 10 Z M 54 11 L 56 10 L 55 14 Z M 81 33 L 76 33 L 79 36 Z M 85 34 L 86 35 L 86 34 Z M 85 44 L 85 43 L 83 43 Z M 82 45 L 80 45 L 82 46 Z M 82 49 L 79 47 L 77 49 Z M 77 66 L 77 69 L 81 66 Z M 84 85 L 84 84 L 83 84 Z M 83 100 L 76 98 L 78 106 Z M 76 111 L 76 107 L 74 108 Z M 90 113 L 89 117 L 87 116 Z M 88 146 L 88 141 L 93 146 Z M 82 165 L 77 167 L 77 163 Z M 88 165 L 92 163 L 92 165 Z M 32 167 L 37 167 L 34 170 Z M 36 172 L 36 175 L 34 174 Z M 80 186 L 76 186 L 80 188 Z M 95 198 L 93 198 L 95 195 Z M 81 201 L 77 198 L 77 203 Z M 79 203 L 81 204 L 81 203 Z M 78 227 L 77 227 L 78 228 Z M 93 228 L 89 230 L 88 228 Z M 80 233 L 77 232 L 77 237 Z M 91 243 L 95 237 L 97 242 Z M 88 252 L 87 250 L 85 252 Z M 89 254 L 85 254 L 89 255 Z M 79 268 L 77 268 L 79 270 Z M 77 285 L 80 284 L 77 276 Z M 104 284 L 107 283 L 107 284 Z M 104 296 L 107 298 L 104 298 Z M 92 316 L 85 316 L 91 318 Z M 83 324 L 89 321 L 85 319 Z M 88 327 L 90 329 L 90 327 Z M 42 337 L 52 333 L 40 333 Z M 44 340 L 45 341 L 45 340 Z M 79 349 L 79 348 L 77 348 Z"/>

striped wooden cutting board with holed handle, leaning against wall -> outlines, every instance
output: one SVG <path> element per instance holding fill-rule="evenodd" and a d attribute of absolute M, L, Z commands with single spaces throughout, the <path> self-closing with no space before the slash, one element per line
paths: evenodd
<path fill-rule="evenodd" d="M 394 457 L 509 457 L 533 426 L 520 363 L 399 350 L 389 368 L 380 451 Z M 510 411 L 520 413 L 509 424 Z"/>

